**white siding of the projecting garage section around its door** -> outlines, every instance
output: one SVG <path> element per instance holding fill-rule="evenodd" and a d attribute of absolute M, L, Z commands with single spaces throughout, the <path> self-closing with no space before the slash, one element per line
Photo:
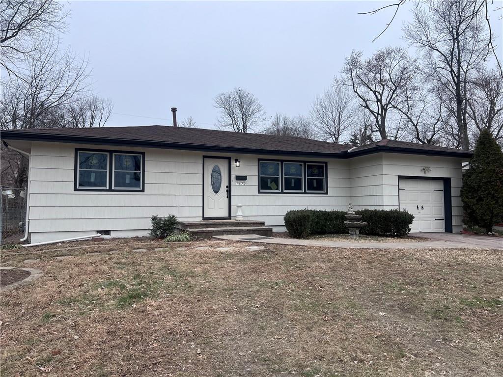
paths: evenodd
<path fill-rule="evenodd" d="M 453 232 L 462 228 L 461 158 L 375 153 L 350 160 L 351 200 L 357 209 L 398 208 L 398 176 L 451 178 Z M 430 171 L 422 171 L 429 167 Z"/>

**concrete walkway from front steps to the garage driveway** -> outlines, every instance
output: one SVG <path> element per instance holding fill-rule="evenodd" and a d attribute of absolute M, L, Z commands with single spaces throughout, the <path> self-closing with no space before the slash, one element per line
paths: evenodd
<path fill-rule="evenodd" d="M 427 241 L 418 242 L 348 242 L 348 241 L 324 241 L 324 240 L 298 240 L 293 238 L 266 238 L 254 234 L 214 236 L 221 240 L 274 243 L 280 245 L 302 245 L 339 247 L 355 249 L 441 249 L 453 247 L 478 248 L 478 249 L 502 249 L 503 238 L 489 236 L 471 236 L 453 233 L 421 233 L 413 234 L 421 238 L 429 238 Z"/>

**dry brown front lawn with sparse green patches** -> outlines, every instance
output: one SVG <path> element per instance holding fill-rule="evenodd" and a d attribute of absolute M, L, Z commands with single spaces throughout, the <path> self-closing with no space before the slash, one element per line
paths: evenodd
<path fill-rule="evenodd" d="M 501 251 L 249 245 L 4 255 L 2 376 L 502 375 Z"/>

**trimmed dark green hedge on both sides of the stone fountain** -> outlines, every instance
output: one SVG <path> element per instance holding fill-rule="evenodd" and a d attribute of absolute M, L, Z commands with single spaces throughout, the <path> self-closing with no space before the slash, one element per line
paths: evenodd
<path fill-rule="evenodd" d="M 405 210 L 362 210 L 356 213 L 362 215 L 361 221 L 368 223 L 360 229 L 360 233 L 373 236 L 405 236 L 410 232 L 410 224 L 414 219 Z M 309 238 L 313 234 L 347 234 L 345 215 L 344 211 L 305 209 L 288 211 L 284 220 L 292 237 Z"/>

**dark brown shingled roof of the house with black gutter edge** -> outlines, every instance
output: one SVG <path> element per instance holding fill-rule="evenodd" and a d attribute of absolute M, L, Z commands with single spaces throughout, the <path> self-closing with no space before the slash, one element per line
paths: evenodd
<path fill-rule="evenodd" d="M 200 151 L 238 151 L 264 154 L 324 155 L 350 158 L 375 152 L 398 152 L 471 157 L 472 152 L 432 145 L 383 140 L 353 148 L 293 136 L 243 134 L 171 126 L 103 128 L 46 128 L 2 131 L 4 140 L 34 140 L 105 145 L 130 145 Z"/>

